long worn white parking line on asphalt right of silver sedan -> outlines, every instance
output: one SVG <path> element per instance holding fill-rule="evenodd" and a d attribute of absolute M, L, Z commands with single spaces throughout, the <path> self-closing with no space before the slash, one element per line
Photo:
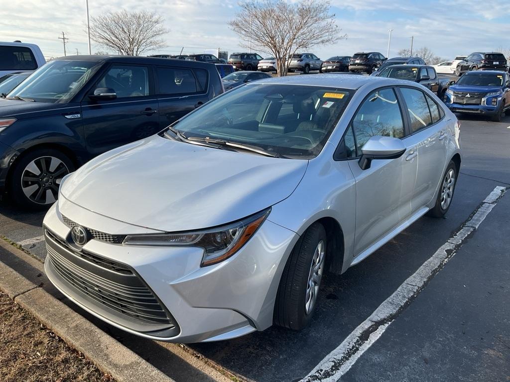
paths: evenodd
<path fill-rule="evenodd" d="M 349 371 L 362 354 L 385 332 L 397 314 L 406 305 L 410 304 L 428 281 L 455 255 L 468 235 L 478 228 L 505 192 L 505 187 L 497 186 L 494 188 L 461 229 L 441 245 L 432 257 L 405 280 L 336 349 L 331 351 L 307 376 L 301 379 L 301 382 L 334 382 Z"/>

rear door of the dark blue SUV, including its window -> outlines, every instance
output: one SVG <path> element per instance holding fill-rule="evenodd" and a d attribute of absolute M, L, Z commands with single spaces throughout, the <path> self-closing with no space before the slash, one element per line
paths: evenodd
<path fill-rule="evenodd" d="M 209 100 L 207 79 L 208 72 L 205 69 L 171 66 L 156 68 L 161 129 Z"/>

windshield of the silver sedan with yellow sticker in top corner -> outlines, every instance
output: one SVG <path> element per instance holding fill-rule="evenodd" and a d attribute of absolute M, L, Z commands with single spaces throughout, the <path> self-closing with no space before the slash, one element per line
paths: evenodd
<path fill-rule="evenodd" d="M 324 147 L 351 93 L 329 87 L 248 85 L 205 104 L 173 128 L 188 139 L 208 137 L 310 158 Z"/>

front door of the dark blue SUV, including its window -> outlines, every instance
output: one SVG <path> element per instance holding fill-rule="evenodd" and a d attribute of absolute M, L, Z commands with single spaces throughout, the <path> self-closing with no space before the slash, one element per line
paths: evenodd
<path fill-rule="evenodd" d="M 113 91 L 115 99 L 91 99 L 89 96 L 99 88 Z M 111 64 L 82 100 L 82 118 L 86 146 L 92 155 L 157 132 L 158 101 L 151 68 Z"/>

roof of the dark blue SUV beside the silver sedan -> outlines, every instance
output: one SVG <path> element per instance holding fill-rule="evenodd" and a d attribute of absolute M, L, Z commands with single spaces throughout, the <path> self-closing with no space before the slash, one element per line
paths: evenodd
<path fill-rule="evenodd" d="M 199 56 L 198 54 L 191 54 L 190 56 Z M 186 61 L 176 59 L 165 59 L 159 57 L 142 57 L 142 56 L 99 56 L 97 54 L 80 54 L 80 56 L 64 56 L 59 57 L 59 61 L 92 61 L 92 62 L 115 62 L 120 64 L 146 64 L 146 65 L 187 65 L 195 68 L 209 68 L 209 63 L 199 61 Z"/>

